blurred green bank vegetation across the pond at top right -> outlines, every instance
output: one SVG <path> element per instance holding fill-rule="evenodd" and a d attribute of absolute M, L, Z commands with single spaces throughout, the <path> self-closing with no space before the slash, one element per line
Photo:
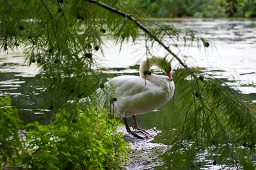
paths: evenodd
<path fill-rule="evenodd" d="M 255 0 L 133 0 L 151 17 L 255 17 Z"/>

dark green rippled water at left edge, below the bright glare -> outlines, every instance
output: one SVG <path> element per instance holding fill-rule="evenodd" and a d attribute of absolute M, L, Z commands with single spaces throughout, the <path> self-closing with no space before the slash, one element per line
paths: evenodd
<path fill-rule="evenodd" d="M 42 108 L 41 88 L 36 86 L 35 77 L 22 77 L 19 73 L 0 73 L 0 95 L 10 95 L 12 104 L 19 109 L 24 123 L 40 121 L 46 123 L 51 112 Z"/>

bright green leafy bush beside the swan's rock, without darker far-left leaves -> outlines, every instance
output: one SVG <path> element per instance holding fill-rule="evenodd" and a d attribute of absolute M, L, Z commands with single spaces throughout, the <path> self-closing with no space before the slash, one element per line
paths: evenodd
<path fill-rule="evenodd" d="M 92 107 L 61 109 L 49 125 L 27 125 L 33 129 L 27 135 L 31 158 L 26 163 L 32 169 L 117 169 L 126 152 L 118 125 Z"/>

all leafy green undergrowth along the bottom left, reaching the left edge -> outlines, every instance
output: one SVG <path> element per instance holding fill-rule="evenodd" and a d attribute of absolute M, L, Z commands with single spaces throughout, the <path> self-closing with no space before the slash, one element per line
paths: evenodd
<path fill-rule="evenodd" d="M 126 160 L 127 143 L 107 111 L 69 105 L 74 109 L 60 109 L 49 125 L 26 125 L 25 143 L 18 110 L 10 105 L 9 97 L 0 97 L 1 169 L 117 169 Z"/>

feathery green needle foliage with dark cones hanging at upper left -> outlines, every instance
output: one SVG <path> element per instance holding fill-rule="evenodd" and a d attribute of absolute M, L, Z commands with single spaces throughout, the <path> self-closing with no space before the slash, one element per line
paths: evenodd
<path fill-rule="evenodd" d="M 122 1 L 103 2 L 134 13 Z M 88 97 L 99 88 L 95 68 L 103 35 L 111 32 L 116 42 L 138 37 L 134 22 L 83 0 L 4 1 L 0 13 L 0 47 L 6 52 L 25 48 L 29 65 L 42 69 L 44 88 L 59 99 L 51 99 L 57 108 L 67 98 Z"/>

